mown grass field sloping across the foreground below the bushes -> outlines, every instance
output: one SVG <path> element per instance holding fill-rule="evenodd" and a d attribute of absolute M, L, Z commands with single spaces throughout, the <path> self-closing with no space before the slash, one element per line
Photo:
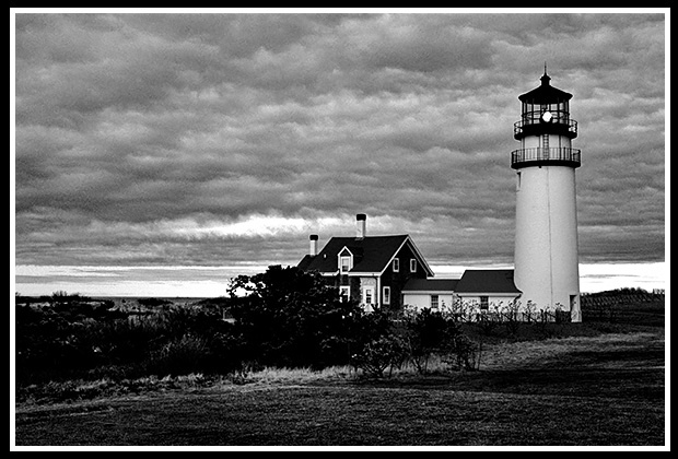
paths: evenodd
<path fill-rule="evenodd" d="M 664 446 L 664 328 L 503 342 L 479 372 L 268 370 L 22 403 L 17 446 Z M 198 378 L 199 379 L 199 378 Z"/>

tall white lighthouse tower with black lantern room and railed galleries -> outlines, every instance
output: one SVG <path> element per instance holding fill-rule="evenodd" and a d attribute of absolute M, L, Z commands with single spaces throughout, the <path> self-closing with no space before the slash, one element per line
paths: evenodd
<path fill-rule="evenodd" d="M 516 170 L 516 233 L 514 282 L 521 304 L 536 309 L 569 310 L 581 321 L 580 273 L 574 172 L 581 151 L 570 118 L 572 94 L 541 85 L 518 96 L 523 113 L 514 125 L 521 149 L 511 153 Z"/>

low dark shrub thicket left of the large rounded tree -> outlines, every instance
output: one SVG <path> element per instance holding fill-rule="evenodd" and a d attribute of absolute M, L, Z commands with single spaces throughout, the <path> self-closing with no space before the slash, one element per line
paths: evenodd
<path fill-rule="evenodd" d="M 57 295 L 63 297 L 65 295 Z M 230 372 L 237 345 L 232 326 L 213 310 L 174 307 L 147 315 L 108 310 L 106 304 L 63 303 L 16 307 L 16 384 L 82 377 L 135 377 L 150 370 Z M 199 340 L 203 346 L 189 339 Z M 202 349 L 204 354 L 200 354 Z M 199 366 L 199 367 L 198 367 Z"/>

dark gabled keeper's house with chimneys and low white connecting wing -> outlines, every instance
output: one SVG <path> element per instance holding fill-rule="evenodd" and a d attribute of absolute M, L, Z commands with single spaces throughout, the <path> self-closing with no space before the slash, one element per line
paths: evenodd
<path fill-rule="evenodd" d="M 356 215 L 355 237 L 332 237 L 318 251 L 318 236 L 309 236 L 309 250 L 299 262 L 317 271 L 343 298 L 365 309 L 404 305 L 443 309 L 455 301 L 488 309 L 521 295 L 513 270 L 466 270 L 460 279 L 433 279 L 434 273 L 409 235 L 367 236 L 366 215 Z"/>

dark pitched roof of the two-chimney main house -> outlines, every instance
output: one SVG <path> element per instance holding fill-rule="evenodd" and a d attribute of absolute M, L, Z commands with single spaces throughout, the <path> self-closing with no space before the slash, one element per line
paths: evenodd
<path fill-rule="evenodd" d="M 337 256 L 346 247 L 353 255 L 351 272 L 382 272 L 406 242 L 412 245 L 424 269 L 433 275 L 426 261 L 407 234 L 362 238 L 332 237 L 315 257 L 306 255 L 297 266 L 305 271 L 337 272 Z"/>

